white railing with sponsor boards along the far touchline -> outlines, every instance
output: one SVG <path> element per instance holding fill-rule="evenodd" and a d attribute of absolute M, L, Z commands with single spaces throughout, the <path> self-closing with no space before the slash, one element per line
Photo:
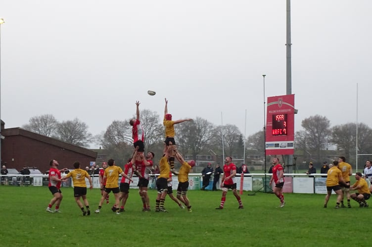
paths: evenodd
<path fill-rule="evenodd" d="M 148 188 L 155 189 L 156 176 L 159 174 L 151 174 Z M 247 173 L 243 174 L 243 191 L 260 191 L 260 192 L 271 192 L 273 185 L 269 185 L 271 173 Z M 326 194 L 326 176 L 327 174 L 313 173 L 311 175 L 306 173 L 284 173 L 284 193 L 307 193 L 307 194 Z M 353 174 L 354 175 L 354 174 Z M 63 174 L 62 174 L 63 176 Z M 93 188 L 100 188 L 98 175 L 91 175 L 93 180 Z M 221 177 L 216 185 L 217 189 L 220 189 Z M 189 190 L 198 190 L 201 188 L 202 175 L 201 173 L 190 173 L 189 178 Z M 130 188 L 138 188 L 138 177 L 133 176 L 133 183 L 130 184 Z M 178 179 L 177 176 L 172 176 L 172 188 L 177 190 Z M 120 184 L 121 177 L 119 178 L 118 184 Z M 235 177 L 236 188 L 240 188 L 241 174 L 237 174 Z M 86 179 L 87 186 L 89 181 Z M 0 175 L 0 186 L 48 186 L 48 175 L 45 174 L 11 174 L 11 175 Z M 206 190 L 212 190 L 213 174 L 211 175 L 209 186 Z M 72 187 L 72 180 L 69 178 L 66 182 L 62 183 L 62 187 Z M 266 188 L 265 188 L 266 187 Z"/>

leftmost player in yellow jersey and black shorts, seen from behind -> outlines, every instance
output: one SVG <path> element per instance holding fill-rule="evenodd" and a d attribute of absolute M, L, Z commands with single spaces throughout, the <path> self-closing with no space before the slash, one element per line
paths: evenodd
<path fill-rule="evenodd" d="M 72 182 L 74 184 L 74 197 L 76 204 L 80 207 L 80 209 L 83 212 L 83 216 L 85 215 L 91 215 L 91 210 L 89 209 L 89 202 L 87 199 L 87 183 L 85 182 L 85 178 L 88 178 L 90 189 L 93 189 L 93 183 L 92 178 L 88 174 L 86 170 L 80 169 L 80 162 L 74 163 L 74 170 L 67 173 L 66 176 L 64 176 L 61 180 L 66 181 L 67 178 L 71 177 Z M 80 198 L 83 198 L 84 205 L 87 208 L 87 211 L 84 210 L 84 206 L 82 202 L 80 201 Z"/>

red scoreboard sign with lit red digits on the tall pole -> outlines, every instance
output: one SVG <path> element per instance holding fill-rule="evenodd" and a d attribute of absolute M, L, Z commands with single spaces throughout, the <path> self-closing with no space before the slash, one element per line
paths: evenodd
<path fill-rule="evenodd" d="M 294 94 L 268 97 L 266 155 L 294 153 Z"/>

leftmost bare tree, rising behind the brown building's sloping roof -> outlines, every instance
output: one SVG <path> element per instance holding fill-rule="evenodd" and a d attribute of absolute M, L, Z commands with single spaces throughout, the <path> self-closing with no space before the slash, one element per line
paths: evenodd
<path fill-rule="evenodd" d="M 45 136 L 53 136 L 57 129 L 58 121 L 51 114 L 32 117 L 28 124 L 22 128 Z"/>

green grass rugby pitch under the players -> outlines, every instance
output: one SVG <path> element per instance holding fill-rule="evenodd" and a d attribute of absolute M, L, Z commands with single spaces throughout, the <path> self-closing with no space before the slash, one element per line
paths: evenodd
<path fill-rule="evenodd" d="M 138 190 L 131 190 L 126 211 L 114 214 L 103 205 L 98 189 L 88 191 L 92 215 L 83 216 L 72 188 L 62 188 L 62 213 L 48 213 L 47 187 L 0 186 L 0 246 L 370 246 L 370 208 L 334 209 L 336 196 L 323 208 L 324 195 L 285 194 L 279 208 L 274 194 L 241 196 L 232 192 L 223 210 L 216 210 L 221 191 L 189 191 L 192 212 L 169 197 L 168 213 L 154 212 L 156 192 L 149 191 L 151 212 L 141 211 Z M 113 196 L 110 197 L 113 202 Z M 54 209 L 54 207 L 53 207 Z"/>

